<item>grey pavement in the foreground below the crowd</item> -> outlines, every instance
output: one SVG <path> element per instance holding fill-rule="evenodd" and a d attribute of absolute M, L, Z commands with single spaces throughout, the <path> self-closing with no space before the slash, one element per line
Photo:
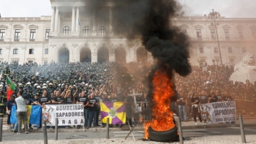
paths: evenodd
<path fill-rule="evenodd" d="M 256 126 L 245 126 L 246 137 L 249 137 L 251 142 L 256 143 Z M 110 132 L 110 140 L 124 140 L 129 131 L 120 131 L 120 132 Z M 135 130 L 133 132 L 136 140 L 143 143 L 142 139 L 144 137 L 144 132 L 141 130 Z M 203 129 L 183 129 L 184 137 L 188 137 L 190 142 L 192 140 L 204 140 L 205 137 L 238 137 L 237 140 L 241 141 L 240 128 L 239 127 L 223 127 L 223 128 L 203 128 Z M 252 137 L 253 136 L 253 137 Z M 59 141 L 70 140 L 103 140 L 106 137 L 106 132 L 59 132 Z M 240 139 L 239 139 L 240 138 Z M 224 139 L 224 138 L 223 138 Z M 30 134 L 14 134 L 12 132 L 3 132 L 2 141 L 7 142 L 26 142 L 26 140 L 35 140 L 38 142 L 43 141 L 42 132 L 35 132 Z M 48 140 L 54 139 L 54 132 L 48 132 Z M 69 141 L 68 141 L 69 140 Z M 132 139 L 132 134 L 129 135 L 128 139 Z M 233 140 L 226 138 L 226 140 Z M 55 141 L 56 142 L 56 141 Z M 151 142 L 151 141 L 148 141 Z M 90 142 L 94 143 L 94 142 Z M 210 142 L 209 142 L 210 143 Z"/>

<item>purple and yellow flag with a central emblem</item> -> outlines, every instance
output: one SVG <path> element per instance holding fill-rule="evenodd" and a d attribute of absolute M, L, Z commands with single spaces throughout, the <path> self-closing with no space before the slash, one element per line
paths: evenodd
<path fill-rule="evenodd" d="M 126 113 L 124 102 L 100 102 L 100 114 L 102 116 L 102 123 L 109 124 L 125 124 Z"/>

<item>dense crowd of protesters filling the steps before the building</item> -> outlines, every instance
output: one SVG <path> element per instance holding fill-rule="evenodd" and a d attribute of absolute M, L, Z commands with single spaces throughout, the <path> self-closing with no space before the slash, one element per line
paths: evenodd
<path fill-rule="evenodd" d="M 129 124 L 132 124 L 129 106 L 134 99 L 129 95 L 141 94 L 137 96 L 137 101 L 146 102 L 145 79 L 151 64 L 52 62 L 43 65 L 37 63 L 21 65 L 14 62 L 1 63 L 1 68 L 3 77 L 1 77 L 0 96 L 6 96 L 7 87 L 4 80 L 6 75 L 17 86 L 11 99 L 6 103 L 9 115 L 8 126 L 10 126 L 10 109 L 15 105 L 14 99 L 19 91 L 23 90 L 28 94 L 30 105 L 83 104 L 86 116 L 85 126 L 89 128 L 91 125 L 99 126 L 99 101 L 127 102 L 127 119 Z M 187 106 L 189 106 L 189 114 L 193 109 L 192 117 L 195 118 L 197 115 L 195 110 L 198 110 L 196 105 L 230 99 L 255 100 L 256 81 L 254 84 L 249 80 L 246 80 L 246 83 L 230 81 L 232 72 L 231 64 L 208 65 L 204 61 L 199 61 L 199 66 L 192 66 L 192 73 L 189 76 L 176 75 L 178 101 L 173 110 L 177 109 L 177 114 L 184 115 L 184 121 L 187 121 Z M 2 103 L 5 103 L 4 100 Z M 5 107 L 0 105 L 0 109 Z M 4 110 L 2 113 L 4 114 Z"/>

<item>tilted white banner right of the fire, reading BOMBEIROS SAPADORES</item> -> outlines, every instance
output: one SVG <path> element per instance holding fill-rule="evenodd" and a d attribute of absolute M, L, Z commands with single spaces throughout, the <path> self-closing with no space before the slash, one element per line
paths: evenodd
<path fill-rule="evenodd" d="M 236 121 L 236 102 L 214 102 L 200 106 L 203 122 L 218 124 Z"/>

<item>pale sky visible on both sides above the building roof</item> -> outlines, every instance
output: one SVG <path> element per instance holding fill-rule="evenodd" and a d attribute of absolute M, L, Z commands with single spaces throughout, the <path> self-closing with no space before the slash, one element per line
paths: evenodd
<path fill-rule="evenodd" d="M 71 0 L 70 0 L 71 1 Z M 256 18 L 256 0 L 177 0 L 185 15 L 208 14 L 212 9 L 226 18 Z M 50 0 L 0 0 L 1 18 L 51 15 Z"/>

